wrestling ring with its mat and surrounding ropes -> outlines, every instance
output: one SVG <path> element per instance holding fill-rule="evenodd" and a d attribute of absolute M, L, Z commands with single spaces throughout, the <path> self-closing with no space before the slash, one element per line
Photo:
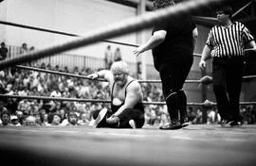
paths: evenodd
<path fill-rule="evenodd" d="M 163 22 L 175 13 L 189 12 L 203 8 L 205 5 L 215 5 L 220 2 L 221 0 L 194 0 L 155 13 L 141 15 L 136 19 L 85 34 L 70 42 L 1 61 L 0 69 L 16 67 L 23 70 L 88 79 L 84 75 L 65 74 L 18 64 L 54 56 L 95 42 L 111 42 L 105 39 Z M 136 46 L 136 44 L 130 43 L 123 44 Z M 254 77 L 256 76 L 245 76 L 244 79 Z M 139 80 L 139 82 L 159 83 L 160 81 Z M 204 76 L 199 80 L 186 80 L 186 83 L 208 85 L 211 83 L 211 77 Z M 110 103 L 108 100 L 8 94 L 0 94 L 0 98 Z M 143 104 L 164 105 L 165 103 L 144 101 Z M 256 102 L 241 102 L 240 104 L 255 105 Z M 210 101 L 188 103 L 188 106 L 211 107 L 214 105 L 216 104 Z M 158 127 L 147 125 L 136 130 L 92 128 L 84 125 L 0 127 L 0 154 L 2 163 L 9 165 L 254 165 L 256 162 L 255 140 L 255 125 L 233 128 L 221 127 L 220 125 L 190 125 L 187 128 L 172 131 L 159 130 Z"/>

